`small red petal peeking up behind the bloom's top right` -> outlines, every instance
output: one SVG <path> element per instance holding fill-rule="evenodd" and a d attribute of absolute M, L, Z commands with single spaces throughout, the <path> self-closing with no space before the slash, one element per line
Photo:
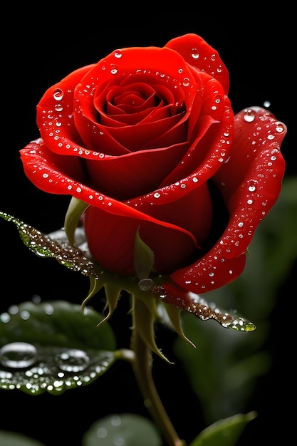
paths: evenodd
<path fill-rule="evenodd" d="M 202 37 L 188 33 L 184 36 L 172 38 L 165 46 L 181 54 L 189 65 L 217 79 L 224 88 L 225 94 L 228 94 L 229 72 L 217 50 L 212 48 Z"/>

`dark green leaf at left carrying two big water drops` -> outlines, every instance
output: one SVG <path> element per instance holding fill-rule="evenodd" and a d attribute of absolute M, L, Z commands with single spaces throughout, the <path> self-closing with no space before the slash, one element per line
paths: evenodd
<path fill-rule="evenodd" d="M 115 336 L 92 308 L 31 301 L 0 315 L 0 388 L 31 395 L 88 385 L 115 361 Z"/>

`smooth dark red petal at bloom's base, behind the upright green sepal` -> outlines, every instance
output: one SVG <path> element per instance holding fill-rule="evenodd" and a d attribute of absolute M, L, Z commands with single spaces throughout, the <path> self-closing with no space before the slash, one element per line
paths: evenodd
<path fill-rule="evenodd" d="M 138 217 L 142 214 L 139 213 Z M 153 251 L 154 269 L 168 274 L 187 264 L 197 249 L 189 233 L 173 224 L 145 216 L 145 220 L 130 216 L 117 216 L 98 207 L 88 207 L 83 224 L 88 248 L 96 261 L 109 271 L 135 275 L 134 244 L 137 228 L 140 237 Z"/>

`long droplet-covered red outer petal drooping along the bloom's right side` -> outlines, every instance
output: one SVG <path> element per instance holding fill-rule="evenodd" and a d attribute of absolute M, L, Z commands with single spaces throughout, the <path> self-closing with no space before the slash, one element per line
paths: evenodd
<path fill-rule="evenodd" d="M 214 175 L 229 210 L 229 224 L 207 255 L 170 275 L 179 292 L 180 287 L 185 294 L 212 291 L 244 270 L 251 237 L 281 192 L 285 162 L 280 145 L 285 135 L 286 126 L 264 108 L 236 115 L 230 159 Z"/>

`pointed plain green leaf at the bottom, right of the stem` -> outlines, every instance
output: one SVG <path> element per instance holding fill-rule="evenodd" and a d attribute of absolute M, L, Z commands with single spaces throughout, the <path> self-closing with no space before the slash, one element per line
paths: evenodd
<path fill-rule="evenodd" d="M 189 446 L 234 446 L 247 423 L 256 418 L 255 412 L 236 414 L 214 422 L 202 430 Z"/>

